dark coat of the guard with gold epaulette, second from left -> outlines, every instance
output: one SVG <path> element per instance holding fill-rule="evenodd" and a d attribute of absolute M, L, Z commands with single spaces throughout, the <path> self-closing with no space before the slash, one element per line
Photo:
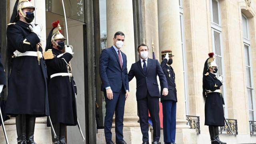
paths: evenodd
<path fill-rule="evenodd" d="M 50 117 L 53 124 L 62 123 L 67 126 L 75 126 L 77 124 L 76 86 L 73 77 L 70 79 L 69 76 L 55 76 L 50 78 L 52 74 L 68 73 L 66 62 L 70 62 L 72 55 L 65 53 L 60 58 L 57 58 L 62 52 L 54 48 L 52 48 L 52 53 L 55 57 L 45 60 L 48 73 Z"/>

